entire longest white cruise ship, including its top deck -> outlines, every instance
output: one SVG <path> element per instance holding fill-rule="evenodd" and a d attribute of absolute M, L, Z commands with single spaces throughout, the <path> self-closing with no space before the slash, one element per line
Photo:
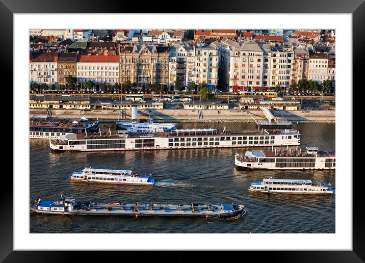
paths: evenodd
<path fill-rule="evenodd" d="M 217 129 L 175 129 L 165 133 L 141 135 L 118 130 L 117 133 L 77 134 L 49 140 L 54 150 L 111 151 L 192 148 L 271 147 L 300 145 L 294 129 L 259 131 L 218 131 Z"/>

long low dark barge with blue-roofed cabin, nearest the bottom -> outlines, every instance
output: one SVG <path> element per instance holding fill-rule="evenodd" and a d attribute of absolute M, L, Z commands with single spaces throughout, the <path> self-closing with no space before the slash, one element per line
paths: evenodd
<path fill-rule="evenodd" d="M 200 217 L 200 218 L 230 218 L 243 216 L 244 205 L 239 204 L 207 204 L 207 203 L 99 203 L 75 202 L 74 198 L 61 200 L 34 200 L 30 210 L 41 214 L 64 216 L 161 216 L 161 217 Z"/>

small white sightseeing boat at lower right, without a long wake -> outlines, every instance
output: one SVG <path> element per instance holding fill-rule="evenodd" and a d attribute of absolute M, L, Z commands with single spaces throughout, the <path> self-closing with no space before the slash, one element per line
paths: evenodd
<path fill-rule="evenodd" d="M 311 180 L 292 179 L 263 179 L 262 182 L 253 182 L 248 187 L 249 191 L 276 193 L 276 194 L 318 194 L 332 195 L 331 185 L 325 183 L 312 183 Z"/>

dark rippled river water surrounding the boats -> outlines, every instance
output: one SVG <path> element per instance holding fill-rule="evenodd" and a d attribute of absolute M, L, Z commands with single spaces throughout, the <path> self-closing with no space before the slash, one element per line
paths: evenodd
<path fill-rule="evenodd" d="M 108 124 L 102 124 L 108 125 Z M 109 124 L 115 127 L 112 124 Z M 253 123 L 184 123 L 182 128 L 255 129 Z M 335 149 L 334 123 L 295 124 L 301 148 Z M 119 152 L 54 152 L 47 140 L 30 140 L 30 200 L 72 196 L 77 201 L 234 202 L 246 206 L 237 220 L 201 218 L 62 217 L 30 213 L 31 233 L 334 233 L 335 196 L 248 192 L 263 178 L 330 182 L 334 171 L 242 170 L 234 154 L 249 148 Z M 85 167 L 151 173 L 155 186 L 70 182 Z"/>

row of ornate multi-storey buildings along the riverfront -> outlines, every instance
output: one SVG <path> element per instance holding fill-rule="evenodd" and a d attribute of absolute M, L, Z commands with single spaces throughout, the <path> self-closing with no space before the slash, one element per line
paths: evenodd
<path fill-rule="evenodd" d="M 90 80 L 95 86 L 130 81 L 139 87 L 158 83 L 174 90 L 179 80 L 181 87 L 206 83 L 213 90 L 236 91 L 289 88 L 292 81 L 305 78 L 318 83 L 330 80 L 334 87 L 334 44 L 321 50 L 319 32 L 291 32 L 284 41 L 281 35 L 223 31 L 195 31 L 194 38 L 209 37 L 203 42 L 182 41 L 187 31 L 153 32 L 166 45 L 128 42 L 131 32 L 119 30 L 113 34 L 116 42 L 76 41 L 62 51 L 32 47 L 30 83 L 59 87 L 73 76 L 79 83 Z"/>

